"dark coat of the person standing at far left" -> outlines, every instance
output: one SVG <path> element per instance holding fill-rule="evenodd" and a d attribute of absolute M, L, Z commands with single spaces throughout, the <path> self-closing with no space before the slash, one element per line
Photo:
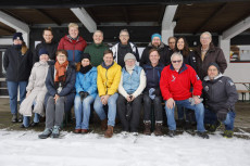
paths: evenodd
<path fill-rule="evenodd" d="M 33 68 L 33 53 L 27 50 L 22 55 L 21 49 L 13 44 L 4 53 L 3 67 L 8 81 L 28 81 Z"/>

